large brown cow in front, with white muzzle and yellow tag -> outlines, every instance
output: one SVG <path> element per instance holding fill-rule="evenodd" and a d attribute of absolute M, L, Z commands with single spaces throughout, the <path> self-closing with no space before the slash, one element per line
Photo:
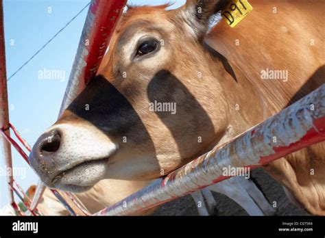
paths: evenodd
<path fill-rule="evenodd" d="M 40 178 L 71 191 L 158 178 L 324 83 L 324 1 L 252 1 L 252 14 L 234 29 L 221 23 L 208 46 L 209 18 L 226 2 L 129 8 L 97 77 L 36 142 Z M 274 70 L 289 79 L 267 80 Z M 266 169 L 324 215 L 324 161 L 317 144 Z"/>

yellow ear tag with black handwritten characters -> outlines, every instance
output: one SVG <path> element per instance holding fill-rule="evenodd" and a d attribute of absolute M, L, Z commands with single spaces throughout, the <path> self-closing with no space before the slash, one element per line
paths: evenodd
<path fill-rule="evenodd" d="M 221 16 L 230 27 L 235 27 L 252 10 L 252 5 L 247 0 L 232 0 L 221 12 Z"/>

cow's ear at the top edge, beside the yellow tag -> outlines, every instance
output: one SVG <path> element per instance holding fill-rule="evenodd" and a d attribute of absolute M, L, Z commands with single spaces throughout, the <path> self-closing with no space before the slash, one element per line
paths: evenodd
<path fill-rule="evenodd" d="M 224 9 L 230 0 L 186 0 L 180 8 L 180 16 L 197 35 L 202 39 L 208 30 L 211 17 Z"/>

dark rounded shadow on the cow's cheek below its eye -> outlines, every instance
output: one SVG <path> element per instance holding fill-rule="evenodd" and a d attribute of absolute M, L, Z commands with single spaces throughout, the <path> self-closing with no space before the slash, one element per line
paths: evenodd
<path fill-rule="evenodd" d="M 189 156 L 189 145 L 200 148 L 202 144 L 198 143 L 199 137 L 215 131 L 208 114 L 197 99 L 168 70 L 159 70 L 156 73 L 147 87 L 147 96 L 150 102 L 175 103 L 176 114 L 173 115 L 170 111 L 155 111 L 155 113 L 171 132 L 178 146 L 178 153 L 184 159 Z M 204 137 L 203 140 L 207 138 Z M 200 153 L 203 152 L 201 149 Z M 197 154 L 191 155 L 194 156 Z"/>

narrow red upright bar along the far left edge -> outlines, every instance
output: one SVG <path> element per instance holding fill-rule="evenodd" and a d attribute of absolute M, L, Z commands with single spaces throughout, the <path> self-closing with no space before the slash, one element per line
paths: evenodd
<path fill-rule="evenodd" d="M 10 136 L 9 131 L 9 113 L 8 113 L 8 92 L 7 92 L 7 70 L 5 66 L 5 34 L 3 25 L 3 2 L 0 1 L 0 128 L 4 133 Z M 3 150 L 3 158 L 5 159 L 6 170 L 10 170 L 8 175 L 8 189 L 10 204 L 14 203 L 14 193 L 10 185 L 13 183 L 12 178 L 12 155 L 10 143 L 5 140 L 3 135 L 1 144 Z"/>

